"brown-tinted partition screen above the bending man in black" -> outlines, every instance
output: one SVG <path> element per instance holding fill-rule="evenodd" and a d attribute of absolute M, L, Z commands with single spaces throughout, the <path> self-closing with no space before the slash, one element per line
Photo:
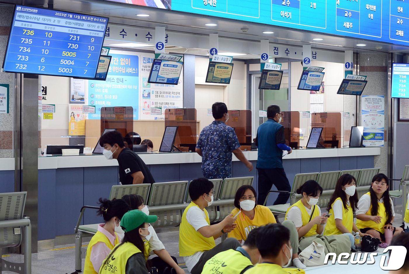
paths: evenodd
<path fill-rule="evenodd" d="M 102 134 L 105 129 L 117 129 L 124 137 L 128 148 L 139 145 L 140 137 L 133 130 L 134 112 L 133 107 L 101 107 L 101 129 Z M 139 142 L 139 143 L 138 143 Z"/>

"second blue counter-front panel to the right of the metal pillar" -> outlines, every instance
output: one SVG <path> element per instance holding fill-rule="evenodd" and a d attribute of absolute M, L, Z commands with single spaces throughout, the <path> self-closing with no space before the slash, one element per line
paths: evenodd
<path fill-rule="evenodd" d="M 84 168 L 61 168 L 56 171 L 56 234 L 74 234 L 84 204 Z"/>

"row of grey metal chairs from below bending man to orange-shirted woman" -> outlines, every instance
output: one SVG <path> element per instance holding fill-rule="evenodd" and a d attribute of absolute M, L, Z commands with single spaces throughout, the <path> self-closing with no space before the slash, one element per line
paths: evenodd
<path fill-rule="evenodd" d="M 242 185 L 252 185 L 254 177 L 213 179 L 214 202 L 209 212 L 210 222 L 221 221 L 234 209 L 234 196 Z M 149 212 L 157 215 L 158 219 L 151 224 L 155 228 L 176 227 L 180 225 L 183 210 L 191 202 L 189 196 L 189 181 L 153 183 L 139 185 L 114 185 L 109 199 L 122 198 L 126 194 L 139 194 L 144 198 Z M 75 227 L 75 270 L 81 271 L 81 258 L 85 258 L 86 249 L 82 246 L 82 238 L 97 233 L 98 224 L 81 225 L 85 209 L 99 207 L 84 206 Z"/>

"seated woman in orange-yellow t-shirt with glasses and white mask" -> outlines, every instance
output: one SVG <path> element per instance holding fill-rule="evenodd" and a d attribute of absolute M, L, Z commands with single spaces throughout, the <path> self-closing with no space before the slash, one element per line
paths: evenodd
<path fill-rule="evenodd" d="M 234 206 L 231 214 L 237 216 L 237 227 L 227 234 L 227 237 L 236 238 L 240 243 L 246 241 L 247 235 L 252 229 L 268 225 L 269 223 L 276 223 L 276 218 L 271 213 L 268 207 L 257 204 L 256 190 L 251 185 L 241 186 L 234 197 Z M 298 258 L 298 234 L 292 221 L 283 221 L 282 225 L 290 230 L 290 242 L 294 254 L 292 254 L 292 264 L 297 268 L 305 268 Z"/>

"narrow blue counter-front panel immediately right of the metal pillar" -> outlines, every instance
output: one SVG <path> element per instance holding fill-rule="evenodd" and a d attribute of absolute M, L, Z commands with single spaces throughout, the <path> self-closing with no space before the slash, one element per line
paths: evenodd
<path fill-rule="evenodd" d="M 56 234 L 56 210 L 59 200 L 56 199 L 56 169 L 38 170 L 38 241 L 54 239 Z M 70 224 L 74 227 L 74 224 Z M 70 234 L 73 234 L 74 230 Z"/>

